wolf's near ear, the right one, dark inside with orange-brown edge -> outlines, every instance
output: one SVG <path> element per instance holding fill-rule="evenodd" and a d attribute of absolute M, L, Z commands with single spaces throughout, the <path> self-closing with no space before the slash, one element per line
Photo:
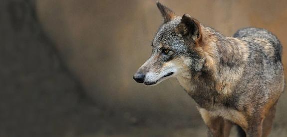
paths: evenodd
<path fill-rule="evenodd" d="M 195 43 L 200 42 L 202 39 L 200 23 L 189 14 L 182 16 L 178 30 L 184 38 L 192 39 Z"/>

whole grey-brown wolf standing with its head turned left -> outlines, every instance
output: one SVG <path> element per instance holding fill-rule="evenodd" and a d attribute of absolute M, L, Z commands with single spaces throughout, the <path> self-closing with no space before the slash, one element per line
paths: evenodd
<path fill-rule="evenodd" d="M 135 81 L 156 85 L 176 77 L 197 103 L 209 137 L 228 137 L 233 125 L 240 137 L 268 136 L 285 87 L 278 38 L 253 27 L 226 37 L 189 14 L 157 7 L 164 23 Z"/>

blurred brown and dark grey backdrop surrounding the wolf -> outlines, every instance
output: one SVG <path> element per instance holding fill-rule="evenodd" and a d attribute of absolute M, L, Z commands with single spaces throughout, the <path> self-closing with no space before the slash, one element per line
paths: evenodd
<path fill-rule="evenodd" d="M 160 1 L 226 36 L 266 28 L 287 64 L 287 0 Z M 206 137 L 176 79 L 132 79 L 162 21 L 155 0 L 1 0 L 0 137 Z M 286 136 L 284 92 L 271 137 Z"/>

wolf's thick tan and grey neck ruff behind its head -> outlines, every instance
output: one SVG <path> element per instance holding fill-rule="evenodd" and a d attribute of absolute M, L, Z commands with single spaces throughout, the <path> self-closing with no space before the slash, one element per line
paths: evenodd
<path fill-rule="evenodd" d="M 225 37 L 209 27 L 202 27 L 202 36 L 203 45 L 199 47 L 205 58 L 202 70 L 178 81 L 189 94 L 208 90 L 206 92 L 229 95 L 243 74 L 249 48 L 245 42 Z"/>

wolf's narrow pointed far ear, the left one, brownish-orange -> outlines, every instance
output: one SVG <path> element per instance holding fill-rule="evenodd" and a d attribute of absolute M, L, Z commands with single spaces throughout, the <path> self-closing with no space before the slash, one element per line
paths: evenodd
<path fill-rule="evenodd" d="M 176 14 L 171 9 L 161 4 L 159 1 L 156 2 L 156 5 L 164 18 L 164 23 L 169 22 L 176 17 Z"/>

